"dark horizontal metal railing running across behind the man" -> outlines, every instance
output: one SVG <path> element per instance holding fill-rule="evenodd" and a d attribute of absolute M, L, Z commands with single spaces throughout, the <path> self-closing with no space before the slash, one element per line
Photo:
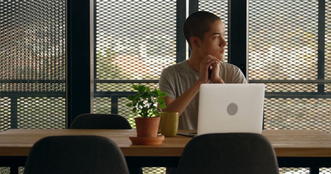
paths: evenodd
<path fill-rule="evenodd" d="M 152 80 L 94 80 L 94 83 L 158 83 L 158 79 Z M 0 79 L 0 83 L 65 83 L 65 80 L 10 80 Z M 250 80 L 250 83 L 313 83 L 326 84 L 331 83 L 331 80 Z M 118 113 L 118 99 L 133 95 L 133 91 L 94 91 L 94 97 L 110 97 L 111 111 L 114 114 Z M 17 128 L 18 119 L 18 102 L 20 97 L 65 97 L 65 91 L 0 91 L 0 97 L 8 97 L 10 103 L 11 114 L 11 128 Z M 317 92 L 266 92 L 265 98 L 331 98 L 331 93 L 317 93 Z M 16 102 L 15 102 L 16 101 Z"/>

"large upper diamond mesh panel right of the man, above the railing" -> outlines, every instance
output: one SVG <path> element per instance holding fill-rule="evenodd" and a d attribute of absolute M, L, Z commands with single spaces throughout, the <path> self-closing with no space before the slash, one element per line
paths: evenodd
<path fill-rule="evenodd" d="M 249 78 L 317 79 L 318 0 L 249 4 Z"/>

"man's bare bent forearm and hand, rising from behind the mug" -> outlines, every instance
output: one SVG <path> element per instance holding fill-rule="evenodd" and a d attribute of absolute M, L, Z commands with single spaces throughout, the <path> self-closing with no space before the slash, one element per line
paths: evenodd
<path fill-rule="evenodd" d="M 199 79 L 186 90 L 181 96 L 176 100 L 173 100 L 170 97 L 164 97 L 163 99 L 166 102 L 166 108 L 162 109 L 164 112 L 178 112 L 181 115 L 190 101 L 194 96 L 199 92 L 200 85 L 207 83 L 209 80 L 208 69 L 212 64 L 217 64 L 219 66 L 220 61 L 211 55 L 205 56 L 204 60 L 200 64 L 200 76 Z"/>

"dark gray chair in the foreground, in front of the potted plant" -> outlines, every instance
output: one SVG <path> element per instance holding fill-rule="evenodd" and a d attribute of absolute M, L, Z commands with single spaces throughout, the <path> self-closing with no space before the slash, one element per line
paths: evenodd
<path fill-rule="evenodd" d="M 122 151 L 102 136 L 50 136 L 37 141 L 24 174 L 129 174 Z"/>

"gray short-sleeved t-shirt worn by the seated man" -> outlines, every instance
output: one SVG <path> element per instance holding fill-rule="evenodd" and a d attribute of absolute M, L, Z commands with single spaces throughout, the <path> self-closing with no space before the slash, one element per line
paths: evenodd
<path fill-rule="evenodd" d="M 219 76 L 224 83 L 247 83 L 244 74 L 234 65 L 221 62 Z M 186 60 L 164 69 L 160 76 L 159 89 L 166 92 L 167 97 L 176 100 L 199 79 L 199 72 L 188 66 Z M 210 80 L 208 83 L 212 83 Z M 198 127 L 199 93 L 187 105 L 179 117 L 178 129 L 197 129 Z"/>

